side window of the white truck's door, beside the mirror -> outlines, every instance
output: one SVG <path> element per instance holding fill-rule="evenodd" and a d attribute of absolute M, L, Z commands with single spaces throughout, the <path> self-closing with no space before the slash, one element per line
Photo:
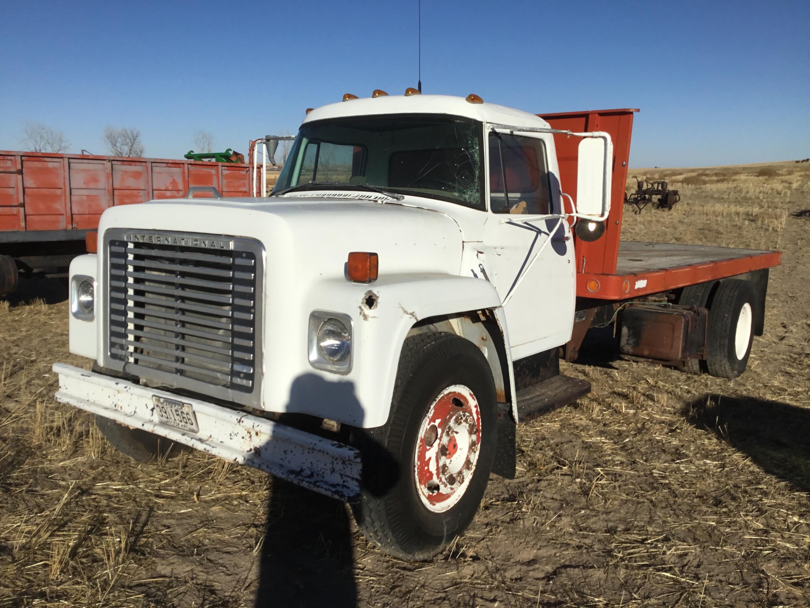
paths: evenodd
<path fill-rule="evenodd" d="M 551 189 L 543 139 L 489 134 L 489 204 L 495 213 L 550 213 Z"/>

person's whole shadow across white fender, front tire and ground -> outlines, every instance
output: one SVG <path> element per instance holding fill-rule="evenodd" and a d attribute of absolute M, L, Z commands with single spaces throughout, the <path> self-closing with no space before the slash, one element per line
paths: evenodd
<path fill-rule="evenodd" d="M 306 414 L 312 404 L 328 404 L 343 420 L 362 425 L 364 410 L 354 383 L 327 381 L 304 374 L 290 388 L 288 414 L 283 421 L 314 435 L 323 435 L 321 418 Z M 343 426 L 335 439 L 361 446 L 360 486 L 385 493 L 397 481 L 393 458 L 368 431 Z M 385 482 L 380 480 L 384 479 Z M 255 608 L 309 608 L 357 605 L 352 528 L 346 504 L 277 477 L 272 480 L 267 507 Z"/>

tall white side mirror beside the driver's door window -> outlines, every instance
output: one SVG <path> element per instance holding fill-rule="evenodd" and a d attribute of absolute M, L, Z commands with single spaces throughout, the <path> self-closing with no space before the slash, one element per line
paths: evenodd
<path fill-rule="evenodd" d="M 610 212 L 613 143 L 610 136 L 586 137 L 577 159 L 577 213 L 604 221 Z"/>

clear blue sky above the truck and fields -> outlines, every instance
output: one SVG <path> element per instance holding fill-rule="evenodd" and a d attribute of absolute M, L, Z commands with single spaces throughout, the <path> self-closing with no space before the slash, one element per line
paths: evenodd
<path fill-rule="evenodd" d="M 642 30 L 637 32 L 636 28 Z M 6 2 L 0 149 L 136 126 L 180 158 L 294 133 L 305 109 L 416 86 L 416 0 Z M 641 108 L 630 165 L 810 156 L 810 2 L 422 2 L 424 92 L 533 113 Z"/>

